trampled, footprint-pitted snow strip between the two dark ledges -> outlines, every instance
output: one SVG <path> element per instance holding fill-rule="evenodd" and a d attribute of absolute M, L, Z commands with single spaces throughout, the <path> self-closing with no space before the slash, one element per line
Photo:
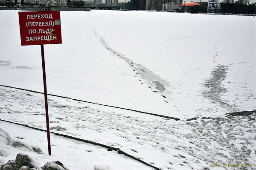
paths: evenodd
<path fill-rule="evenodd" d="M 0 109 L 0 119 L 45 129 L 44 99 L 39 96 L 29 92 L 23 95 L 19 90 L 2 88 L 0 101 L 5 104 Z M 145 119 L 141 114 L 104 112 L 103 108 L 94 109 L 81 102 L 56 99 L 49 98 L 52 132 L 120 148 L 164 170 L 189 170 L 192 167 L 212 170 L 212 163 L 256 164 L 253 159 L 256 113 L 191 121 L 151 115 Z M 0 121 L 0 128 L 4 129 L 6 126 L 3 124 Z M 47 150 L 46 147 L 44 150 Z M 66 163 L 67 160 L 61 162 Z"/>

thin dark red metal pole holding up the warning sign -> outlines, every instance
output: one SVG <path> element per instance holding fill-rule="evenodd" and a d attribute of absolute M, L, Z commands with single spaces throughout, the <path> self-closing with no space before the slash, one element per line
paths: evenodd
<path fill-rule="evenodd" d="M 45 63 L 44 63 L 44 45 L 41 45 L 41 55 L 42 55 L 42 67 L 43 67 L 43 78 L 44 78 L 44 103 L 45 103 L 45 113 L 46 113 L 45 115 L 46 115 L 46 127 L 47 127 L 48 153 L 49 153 L 49 155 L 52 155 L 51 140 L 50 140 L 50 128 L 49 128 L 49 115 L 48 115 Z"/>

